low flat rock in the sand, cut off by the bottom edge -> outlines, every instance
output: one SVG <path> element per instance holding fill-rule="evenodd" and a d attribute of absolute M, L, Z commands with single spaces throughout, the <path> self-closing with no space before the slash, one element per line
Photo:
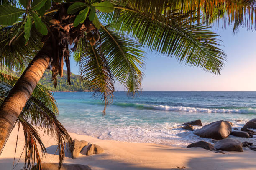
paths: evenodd
<path fill-rule="evenodd" d="M 42 163 L 43 170 L 59 170 L 59 163 Z M 31 170 L 38 170 L 36 165 Z M 87 165 L 81 164 L 62 164 L 60 170 L 92 170 Z"/>

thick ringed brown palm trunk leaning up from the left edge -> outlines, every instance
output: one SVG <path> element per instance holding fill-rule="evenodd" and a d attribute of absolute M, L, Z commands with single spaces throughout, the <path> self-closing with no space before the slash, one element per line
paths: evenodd
<path fill-rule="evenodd" d="M 47 41 L 0 106 L 0 154 L 20 112 L 51 64 L 52 54 L 53 47 L 51 42 Z"/>

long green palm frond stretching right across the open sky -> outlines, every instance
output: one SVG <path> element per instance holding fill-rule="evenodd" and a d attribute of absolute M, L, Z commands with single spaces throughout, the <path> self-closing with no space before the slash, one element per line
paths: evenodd
<path fill-rule="evenodd" d="M 218 35 L 207 30 L 209 27 L 188 27 L 186 20 L 182 25 L 176 24 L 180 23 L 179 13 L 173 16 L 169 24 L 130 10 L 123 10 L 118 20 L 120 23 L 117 28 L 120 32 L 131 35 L 152 52 L 174 56 L 192 67 L 220 74 L 225 53 L 219 48 Z"/>

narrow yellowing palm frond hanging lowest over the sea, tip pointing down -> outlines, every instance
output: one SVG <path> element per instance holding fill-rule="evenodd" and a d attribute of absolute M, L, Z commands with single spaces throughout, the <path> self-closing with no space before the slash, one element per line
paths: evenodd
<path fill-rule="evenodd" d="M 108 62 L 100 51 L 99 42 L 92 46 L 87 40 L 82 40 L 85 41 L 83 43 L 87 43 L 88 50 L 79 48 L 81 80 L 94 91 L 95 97 L 102 95 L 101 99 L 105 102 L 103 115 L 105 115 L 106 107 L 113 102 L 114 79 Z"/>

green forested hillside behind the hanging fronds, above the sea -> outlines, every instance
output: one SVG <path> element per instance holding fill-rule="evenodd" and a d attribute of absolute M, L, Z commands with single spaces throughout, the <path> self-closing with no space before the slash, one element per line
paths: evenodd
<path fill-rule="evenodd" d="M 54 88 L 51 81 L 51 71 L 46 70 L 43 77 L 39 81 L 41 85 L 49 88 L 52 91 L 88 91 L 88 88 L 84 83 L 80 82 L 80 76 L 71 73 L 71 85 L 67 84 L 67 71 L 63 70 L 63 77 L 57 76 L 57 87 Z"/>

